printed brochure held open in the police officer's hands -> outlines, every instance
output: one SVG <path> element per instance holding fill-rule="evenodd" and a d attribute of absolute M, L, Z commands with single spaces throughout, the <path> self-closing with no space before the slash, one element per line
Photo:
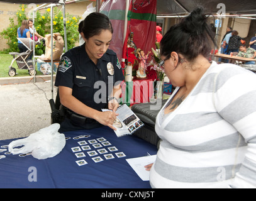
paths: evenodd
<path fill-rule="evenodd" d="M 109 111 L 108 109 L 102 109 L 102 111 Z M 136 130 L 144 126 L 143 122 L 134 114 L 133 111 L 126 105 L 123 104 L 118 107 L 116 113 L 119 115 L 116 117 L 116 121 L 113 126 L 116 128 L 116 136 L 126 136 L 133 134 Z"/>

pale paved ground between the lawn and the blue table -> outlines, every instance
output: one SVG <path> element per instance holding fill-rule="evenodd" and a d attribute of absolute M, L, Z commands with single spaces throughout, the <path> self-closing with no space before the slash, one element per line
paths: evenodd
<path fill-rule="evenodd" d="M 50 75 L 36 76 L 36 82 L 33 77 L 0 78 L 0 140 L 26 137 L 50 126 L 50 79 Z M 53 87 L 54 100 L 55 95 Z"/>

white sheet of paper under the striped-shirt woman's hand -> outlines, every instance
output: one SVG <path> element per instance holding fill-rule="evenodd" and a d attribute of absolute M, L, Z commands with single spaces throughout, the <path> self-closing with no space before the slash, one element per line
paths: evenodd
<path fill-rule="evenodd" d="M 145 166 L 150 163 L 155 163 L 155 160 L 157 158 L 157 155 L 152 156 L 143 156 L 140 158 L 129 158 L 126 159 L 126 161 L 129 163 L 131 168 L 136 172 L 138 177 L 140 177 L 143 181 L 149 181 L 149 173 L 150 171 L 147 171 Z"/>

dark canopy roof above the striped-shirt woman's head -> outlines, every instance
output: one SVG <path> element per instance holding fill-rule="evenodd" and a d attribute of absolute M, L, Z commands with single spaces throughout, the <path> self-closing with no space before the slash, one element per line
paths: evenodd
<path fill-rule="evenodd" d="M 256 19 L 255 0 L 157 0 L 157 18 L 182 18 L 198 6 L 202 6 L 206 14 L 220 20 L 225 17 Z M 220 26 L 221 23 L 216 29 L 216 41 Z"/>

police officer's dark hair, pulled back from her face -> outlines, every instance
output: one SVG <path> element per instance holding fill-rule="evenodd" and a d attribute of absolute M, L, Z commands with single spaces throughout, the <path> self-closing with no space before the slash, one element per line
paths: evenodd
<path fill-rule="evenodd" d="M 94 35 L 100 35 L 102 30 L 109 30 L 113 33 L 111 21 L 105 14 L 94 12 L 84 19 L 82 33 L 84 33 L 86 39 Z"/>

